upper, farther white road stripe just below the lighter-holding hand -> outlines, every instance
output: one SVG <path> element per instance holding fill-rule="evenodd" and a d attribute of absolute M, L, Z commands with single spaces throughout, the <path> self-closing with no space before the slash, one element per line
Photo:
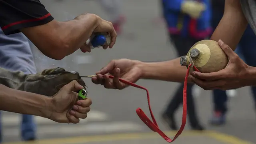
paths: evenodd
<path fill-rule="evenodd" d="M 21 114 L 2 114 L 2 124 L 4 126 L 15 126 L 15 125 L 19 125 L 21 120 L 22 120 L 22 115 Z M 34 116 L 34 120 L 37 124 L 56 124 L 57 122 L 54 122 L 48 118 L 43 118 L 40 116 Z M 103 113 L 103 112 L 99 112 L 99 111 L 94 111 L 91 110 L 90 112 L 88 112 L 88 117 L 86 119 L 80 119 L 80 123 L 85 123 L 88 121 L 104 121 L 104 120 L 108 120 L 108 116 Z"/>

